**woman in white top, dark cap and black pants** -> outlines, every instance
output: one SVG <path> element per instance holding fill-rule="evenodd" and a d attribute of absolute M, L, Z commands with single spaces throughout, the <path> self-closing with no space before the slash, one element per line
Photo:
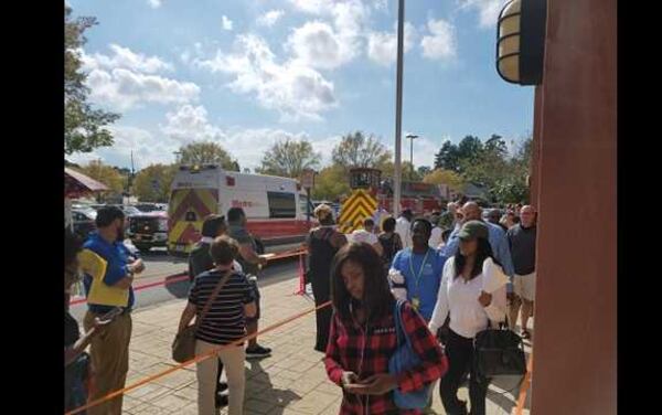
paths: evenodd
<path fill-rule="evenodd" d="M 449 415 L 484 415 L 489 380 L 478 379 L 473 371 L 473 339 L 505 319 L 505 285 L 508 277 L 494 260 L 489 230 L 481 221 L 462 225 L 458 237 L 460 248 L 444 265 L 437 305 L 429 322 L 433 333 L 450 315 L 446 354 L 449 369 L 441 379 L 439 393 Z M 458 400 L 457 393 L 465 373 L 470 373 L 469 400 Z"/>

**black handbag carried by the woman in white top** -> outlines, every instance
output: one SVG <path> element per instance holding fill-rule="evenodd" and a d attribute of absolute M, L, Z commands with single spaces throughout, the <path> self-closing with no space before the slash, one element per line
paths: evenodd
<path fill-rule="evenodd" d="M 488 327 L 473 340 L 476 373 L 482 379 L 494 376 L 524 376 L 526 357 L 522 338 L 508 324 L 492 329 Z"/>

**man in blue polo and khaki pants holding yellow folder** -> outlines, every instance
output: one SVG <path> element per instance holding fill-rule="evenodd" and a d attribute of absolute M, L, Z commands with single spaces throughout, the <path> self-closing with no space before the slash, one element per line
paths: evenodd
<path fill-rule="evenodd" d="M 129 371 L 129 341 L 131 339 L 131 307 L 134 306 L 134 274 L 145 270 L 141 259 L 124 245 L 125 215 L 119 208 L 103 208 L 97 212 L 98 232 L 83 245 L 79 254 L 81 269 L 85 277 L 87 313 L 83 321 L 85 330 L 94 326 L 95 318 L 104 319 L 110 311 L 121 308 L 121 313 L 90 347 L 94 379 L 90 401 L 98 400 L 125 386 Z M 121 414 L 122 395 L 87 409 L 89 415 Z"/>

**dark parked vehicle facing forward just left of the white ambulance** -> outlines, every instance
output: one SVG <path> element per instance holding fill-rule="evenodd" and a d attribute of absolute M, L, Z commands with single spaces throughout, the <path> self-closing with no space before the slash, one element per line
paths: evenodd
<path fill-rule="evenodd" d="M 168 214 L 162 211 L 139 213 L 128 217 L 127 236 L 142 253 L 168 246 Z"/>

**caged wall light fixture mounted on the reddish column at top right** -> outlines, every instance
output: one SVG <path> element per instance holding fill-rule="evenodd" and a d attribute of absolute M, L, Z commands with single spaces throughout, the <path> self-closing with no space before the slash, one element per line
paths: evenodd
<path fill-rule="evenodd" d="M 496 72 L 506 82 L 540 85 L 545 56 L 546 0 L 511 0 L 496 23 Z"/>

